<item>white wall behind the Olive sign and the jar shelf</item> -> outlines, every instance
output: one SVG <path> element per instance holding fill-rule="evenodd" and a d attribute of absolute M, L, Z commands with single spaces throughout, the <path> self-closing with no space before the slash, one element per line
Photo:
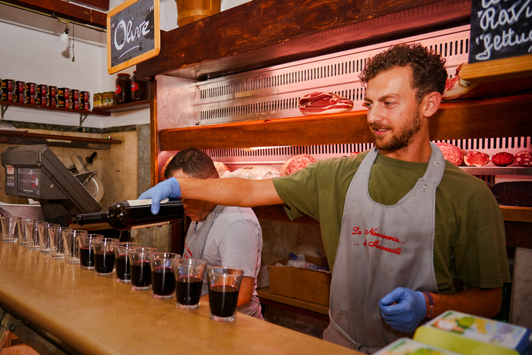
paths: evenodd
<path fill-rule="evenodd" d="M 115 8 L 125 0 L 110 0 Z M 244 0 L 222 0 L 227 10 Z M 70 87 L 96 92 L 114 91 L 116 74 L 107 73 L 106 34 L 69 24 L 70 40 L 59 40 L 65 24 L 33 12 L 0 4 L 0 78 Z M 175 0 L 161 0 L 161 30 L 177 27 Z M 72 59 L 75 58 L 74 61 Z M 134 67 L 122 72 L 133 73 Z M 9 107 L 4 119 L 57 125 L 79 125 L 80 116 L 58 111 Z M 89 115 L 85 127 L 107 128 L 150 123 L 150 111 L 137 110 L 112 116 Z"/>

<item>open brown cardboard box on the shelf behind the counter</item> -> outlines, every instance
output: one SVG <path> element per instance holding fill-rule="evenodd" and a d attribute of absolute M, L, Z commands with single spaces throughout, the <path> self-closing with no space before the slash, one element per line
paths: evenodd
<path fill-rule="evenodd" d="M 286 265 L 290 259 L 279 261 Z M 306 257 L 317 266 L 328 266 L 326 258 Z M 330 272 L 294 268 L 293 266 L 269 266 L 269 292 L 319 304 L 329 304 Z"/>

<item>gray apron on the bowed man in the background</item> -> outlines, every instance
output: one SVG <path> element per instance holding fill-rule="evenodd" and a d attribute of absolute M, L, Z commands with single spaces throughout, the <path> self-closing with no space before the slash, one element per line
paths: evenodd
<path fill-rule="evenodd" d="M 183 259 L 203 259 L 207 236 L 209 236 L 216 216 L 222 213 L 224 208 L 225 206 L 216 205 L 205 220 L 190 225 L 186 232 Z"/>

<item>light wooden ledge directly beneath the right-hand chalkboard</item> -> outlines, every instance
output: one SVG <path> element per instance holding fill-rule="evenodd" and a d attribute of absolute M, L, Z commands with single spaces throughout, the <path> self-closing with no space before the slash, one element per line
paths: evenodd
<path fill-rule="evenodd" d="M 470 83 L 486 83 L 532 76 L 532 54 L 464 64 L 460 78 Z"/>

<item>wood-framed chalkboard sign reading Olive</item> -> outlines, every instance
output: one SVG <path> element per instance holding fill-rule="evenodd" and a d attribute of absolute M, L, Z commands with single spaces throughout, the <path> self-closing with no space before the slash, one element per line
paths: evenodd
<path fill-rule="evenodd" d="M 147 60 L 161 50 L 159 0 L 128 0 L 107 14 L 109 74 Z"/>

